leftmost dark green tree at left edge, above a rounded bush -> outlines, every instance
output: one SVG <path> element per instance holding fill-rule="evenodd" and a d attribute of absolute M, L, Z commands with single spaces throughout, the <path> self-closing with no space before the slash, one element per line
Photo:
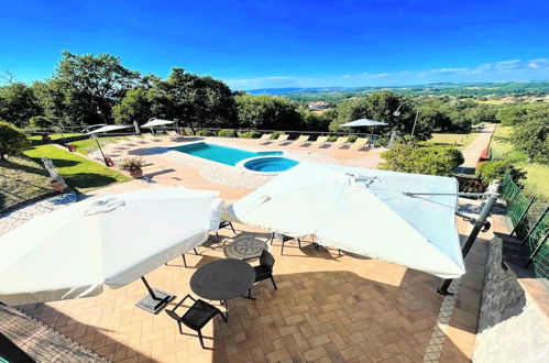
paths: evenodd
<path fill-rule="evenodd" d="M 33 116 L 42 114 L 42 109 L 33 90 L 23 82 L 12 82 L 0 87 L 0 120 L 18 127 L 25 127 Z"/>

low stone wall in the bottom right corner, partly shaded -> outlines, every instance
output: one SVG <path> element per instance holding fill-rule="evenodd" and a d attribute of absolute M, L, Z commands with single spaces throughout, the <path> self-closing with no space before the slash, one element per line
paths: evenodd
<path fill-rule="evenodd" d="M 537 283 L 542 289 L 541 282 Z M 545 296 L 546 293 L 541 292 L 540 295 Z M 502 240 L 492 240 L 473 361 L 547 362 L 549 318 L 539 302 L 525 289 L 523 278 L 517 278 L 512 268 L 503 267 Z"/>

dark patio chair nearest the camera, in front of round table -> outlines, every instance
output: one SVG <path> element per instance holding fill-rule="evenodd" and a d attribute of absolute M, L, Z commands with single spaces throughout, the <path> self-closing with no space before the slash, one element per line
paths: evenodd
<path fill-rule="evenodd" d="M 193 304 L 193 306 L 179 317 L 175 310 L 179 308 L 187 298 L 190 298 L 193 301 L 195 301 L 195 304 Z M 198 339 L 200 340 L 200 345 L 202 345 L 202 349 L 205 349 L 206 346 L 204 346 L 201 329 L 218 314 L 223 318 L 224 322 L 227 322 L 227 317 L 223 315 L 223 312 L 221 312 L 221 310 L 216 308 L 213 305 L 206 302 L 205 300 L 197 300 L 190 295 L 185 296 L 172 310 L 166 310 L 166 314 L 175 321 L 177 321 L 179 333 L 183 334 L 182 323 L 187 328 L 196 331 L 198 333 Z"/>

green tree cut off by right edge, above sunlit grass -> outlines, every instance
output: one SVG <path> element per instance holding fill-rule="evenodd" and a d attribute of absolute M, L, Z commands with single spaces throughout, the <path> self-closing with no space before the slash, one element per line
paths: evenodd
<path fill-rule="evenodd" d="M 549 164 L 549 107 L 529 108 L 513 132 L 515 147 L 532 162 Z"/>

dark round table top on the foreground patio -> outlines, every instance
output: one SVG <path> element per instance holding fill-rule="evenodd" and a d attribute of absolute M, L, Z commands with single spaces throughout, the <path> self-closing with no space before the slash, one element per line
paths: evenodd
<path fill-rule="evenodd" d="M 255 272 L 237 258 L 210 262 L 190 277 L 190 289 L 209 300 L 229 300 L 248 292 L 255 280 Z"/>

